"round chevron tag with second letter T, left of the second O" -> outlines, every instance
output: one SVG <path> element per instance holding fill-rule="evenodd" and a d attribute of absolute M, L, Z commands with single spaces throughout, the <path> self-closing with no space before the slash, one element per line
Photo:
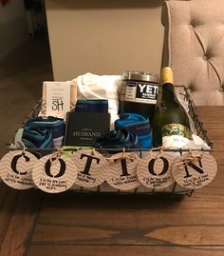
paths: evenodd
<path fill-rule="evenodd" d="M 109 161 L 106 182 L 121 190 L 130 190 L 140 186 L 137 177 L 137 166 L 140 158 L 134 153 L 118 153 Z"/>

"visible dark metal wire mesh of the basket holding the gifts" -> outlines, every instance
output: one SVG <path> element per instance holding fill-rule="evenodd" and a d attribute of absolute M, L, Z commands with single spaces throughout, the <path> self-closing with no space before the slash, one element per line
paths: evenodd
<path fill-rule="evenodd" d="M 187 103 L 188 105 L 188 113 L 189 116 L 191 117 L 194 126 L 195 126 L 195 132 L 196 135 L 198 135 L 201 139 L 203 139 L 207 145 L 210 147 L 210 149 L 203 149 L 201 148 L 200 150 L 202 151 L 212 151 L 213 150 L 213 143 L 210 141 L 206 129 L 203 128 L 203 123 L 199 121 L 198 115 L 196 114 L 196 105 L 192 99 L 192 95 L 189 92 L 189 90 L 183 86 L 176 86 L 177 89 L 181 89 L 181 92 L 178 92 L 181 98 Z M 30 113 L 28 114 L 27 118 L 23 122 L 23 127 L 26 126 L 26 124 L 34 119 L 35 117 L 38 116 L 40 110 L 42 107 L 42 102 L 38 101 L 34 108 L 31 109 Z M 13 139 L 7 144 L 8 150 L 13 150 L 10 148 L 10 145 L 13 143 Z M 37 155 L 39 158 L 42 156 L 52 153 L 56 151 L 56 148 L 28 148 L 27 149 L 29 152 L 34 153 Z M 69 151 L 75 151 L 77 148 L 69 148 L 65 149 Z M 150 151 L 151 149 L 142 149 L 142 148 L 125 148 L 125 151 L 134 151 L 139 155 L 140 158 L 144 156 L 147 151 Z M 179 153 L 179 155 L 182 155 L 184 151 L 189 151 L 189 150 L 194 150 L 191 148 L 179 148 L 179 149 L 174 149 L 174 148 L 167 148 L 164 149 L 164 151 L 169 151 L 169 152 L 174 152 L 174 153 Z M 198 149 L 196 149 L 198 151 Z M 119 151 L 118 148 L 98 148 L 98 151 L 102 153 L 105 156 L 111 155 L 113 153 L 117 153 Z M 120 150 L 121 151 L 121 150 Z M 77 185 L 74 185 L 73 187 L 70 188 L 73 191 L 76 192 L 82 192 L 82 193 L 100 193 L 100 194 L 136 194 L 136 195 L 161 195 L 161 194 L 169 194 L 169 195 L 188 195 L 191 196 L 192 193 L 194 192 L 194 189 L 188 189 L 184 187 L 180 187 L 176 182 L 172 184 L 172 186 L 165 188 L 164 190 L 157 190 L 157 188 L 148 188 L 144 187 L 143 185 L 140 185 L 140 187 L 131 189 L 131 190 L 121 190 L 121 189 L 116 189 L 113 187 L 110 187 L 106 182 L 104 182 L 102 185 L 98 187 L 80 187 Z"/>

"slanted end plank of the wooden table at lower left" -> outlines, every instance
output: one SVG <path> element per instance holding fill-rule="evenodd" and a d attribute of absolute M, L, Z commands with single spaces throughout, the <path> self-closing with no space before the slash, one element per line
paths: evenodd
<path fill-rule="evenodd" d="M 36 189 L 19 191 L 0 249 L 1 256 L 25 255 L 39 216 L 42 198 L 43 194 Z"/>

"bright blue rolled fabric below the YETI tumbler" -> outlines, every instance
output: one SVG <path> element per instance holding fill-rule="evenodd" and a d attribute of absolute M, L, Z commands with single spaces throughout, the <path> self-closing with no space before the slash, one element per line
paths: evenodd
<path fill-rule="evenodd" d="M 137 113 L 121 113 L 115 121 L 115 129 L 127 129 L 138 136 L 140 148 L 152 148 L 152 130 L 147 116 Z"/>

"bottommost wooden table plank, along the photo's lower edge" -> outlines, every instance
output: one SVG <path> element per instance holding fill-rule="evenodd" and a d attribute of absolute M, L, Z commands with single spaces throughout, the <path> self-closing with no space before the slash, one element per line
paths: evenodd
<path fill-rule="evenodd" d="M 61 246 L 31 245 L 27 256 L 223 256 L 224 246 Z"/>

